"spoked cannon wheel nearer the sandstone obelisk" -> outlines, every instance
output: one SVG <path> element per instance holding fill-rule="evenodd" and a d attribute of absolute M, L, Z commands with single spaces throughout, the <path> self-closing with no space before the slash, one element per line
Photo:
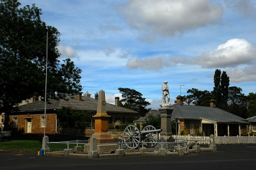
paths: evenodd
<path fill-rule="evenodd" d="M 124 143 L 127 148 L 136 149 L 140 145 L 141 135 L 138 127 L 129 125 L 124 130 Z"/>

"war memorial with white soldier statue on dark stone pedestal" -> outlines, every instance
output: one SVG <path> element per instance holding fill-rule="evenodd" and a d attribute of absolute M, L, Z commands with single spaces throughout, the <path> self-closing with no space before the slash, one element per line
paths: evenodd
<path fill-rule="evenodd" d="M 171 107 L 170 102 L 170 93 L 169 88 L 167 85 L 167 81 L 164 81 L 164 85 L 162 85 L 163 97 L 161 99 L 161 105 L 159 107 L 159 112 L 161 114 L 161 129 L 162 132 L 160 133 L 165 139 L 168 136 L 172 135 L 172 123 L 171 117 L 173 112 L 173 107 Z M 167 101 L 166 101 L 167 98 Z"/>

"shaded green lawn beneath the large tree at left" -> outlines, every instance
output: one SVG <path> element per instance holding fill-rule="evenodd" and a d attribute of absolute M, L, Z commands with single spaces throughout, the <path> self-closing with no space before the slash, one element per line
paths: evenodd
<path fill-rule="evenodd" d="M 76 144 L 69 144 L 69 148 L 74 148 Z M 82 146 L 80 144 L 79 146 Z M 63 151 L 67 148 L 67 144 L 49 144 L 51 151 Z M 12 141 L 0 141 L 0 150 L 8 151 L 19 151 L 19 152 L 29 152 L 29 151 L 39 151 L 42 149 L 42 144 L 39 141 L 33 140 L 12 140 Z"/>

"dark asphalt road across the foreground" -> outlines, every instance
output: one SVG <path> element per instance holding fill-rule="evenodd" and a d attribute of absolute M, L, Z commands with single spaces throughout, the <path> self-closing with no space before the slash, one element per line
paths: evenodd
<path fill-rule="evenodd" d="M 71 158 L 0 152 L 0 169 L 256 169 L 256 144 L 218 145 L 184 157 Z"/>

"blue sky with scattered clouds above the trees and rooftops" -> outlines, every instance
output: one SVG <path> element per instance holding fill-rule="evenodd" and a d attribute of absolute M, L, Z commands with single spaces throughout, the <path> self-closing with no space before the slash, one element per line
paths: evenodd
<path fill-rule="evenodd" d="M 152 109 L 168 81 L 171 104 L 191 88 L 212 91 L 216 69 L 230 86 L 256 93 L 256 3 L 249 0 L 21 0 L 42 8 L 61 33 L 61 59 L 81 70 L 83 93 L 118 88 L 143 94 Z M 184 85 L 184 86 L 180 86 Z"/>

